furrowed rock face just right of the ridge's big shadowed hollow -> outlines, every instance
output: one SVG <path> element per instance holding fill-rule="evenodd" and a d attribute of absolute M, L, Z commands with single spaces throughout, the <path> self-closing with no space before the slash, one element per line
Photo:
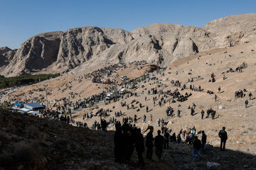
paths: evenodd
<path fill-rule="evenodd" d="M 124 45 L 130 40 L 132 40 L 131 34 L 121 29 L 97 27 L 70 29 L 61 37 L 55 69 L 73 69 L 95 56 L 100 56 L 112 45 Z"/>

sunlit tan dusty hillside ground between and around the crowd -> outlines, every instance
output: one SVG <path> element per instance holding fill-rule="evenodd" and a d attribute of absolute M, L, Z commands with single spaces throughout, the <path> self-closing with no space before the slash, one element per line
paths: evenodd
<path fill-rule="evenodd" d="M 228 142 L 227 149 L 238 150 L 241 152 L 246 152 L 248 154 L 256 153 L 256 124 L 255 124 L 255 99 L 249 101 L 249 108 L 245 109 L 245 100 L 248 99 L 249 92 L 252 92 L 252 98 L 256 96 L 255 94 L 255 82 L 256 82 L 256 42 L 249 42 L 243 45 L 238 45 L 236 47 L 230 47 L 228 49 L 217 49 L 210 50 L 208 52 L 199 53 L 198 55 L 193 55 L 190 57 L 186 57 L 182 60 L 177 60 L 172 63 L 164 72 L 165 75 L 156 75 L 159 79 L 161 79 L 162 84 L 166 84 L 165 86 L 161 86 L 158 89 L 166 90 L 174 90 L 176 87 L 171 86 L 170 81 L 172 79 L 181 81 L 181 84 L 186 83 L 187 86 L 190 85 L 188 83 L 188 78 L 193 77 L 194 82 L 192 83 L 195 86 L 201 85 L 204 91 L 191 91 L 186 89 L 181 91 L 181 94 L 185 94 L 186 92 L 192 93 L 192 96 L 188 98 L 188 101 L 183 103 L 176 102 L 171 103 L 171 107 L 174 108 L 174 113 L 177 113 L 178 104 L 181 104 L 179 109 L 181 110 L 181 118 L 174 117 L 169 118 L 166 116 L 166 108 L 169 106 L 169 103 L 166 103 L 161 108 L 157 106 L 153 106 L 152 95 L 147 95 L 146 91 L 153 87 L 156 87 L 157 84 L 154 84 L 154 81 L 146 81 L 146 83 L 142 82 L 138 84 L 138 87 L 144 84 L 144 88 L 139 87 L 132 92 L 137 92 L 139 96 L 132 96 L 127 98 L 127 103 L 130 103 L 133 99 L 141 102 L 144 106 L 149 106 L 149 110 L 153 109 L 149 113 L 146 113 L 146 107 L 142 108 L 141 111 L 137 112 L 136 110 L 128 110 L 126 107 L 122 108 L 120 106 L 120 101 L 117 103 L 110 103 L 109 105 L 105 105 L 104 103 L 98 104 L 99 108 L 110 108 L 112 110 L 111 116 L 114 116 L 114 111 L 122 111 L 127 116 L 133 117 L 134 114 L 137 114 L 138 118 L 142 118 L 144 114 L 147 116 L 147 122 L 142 123 L 142 119 L 140 119 L 137 125 L 144 130 L 147 125 L 157 125 L 156 120 L 158 118 L 164 118 L 164 120 L 169 121 L 167 128 L 171 128 L 173 132 L 176 134 L 181 130 L 181 128 L 191 128 L 194 125 L 197 130 L 205 130 L 206 135 L 208 135 L 208 143 L 213 145 L 214 147 L 218 147 L 219 145 L 219 137 L 218 131 L 221 130 L 223 126 L 226 127 L 228 132 Z M 227 52 L 225 52 L 227 51 Z M 199 57 L 199 60 L 198 60 Z M 232 67 L 235 69 L 240 66 L 242 62 L 247 63 L 247 68 L 243 69 L 242 73 L 238 72 L 229 72 L 226 71 Z M 97 68 L 92 69 L 98 69 Z M 170 68 L 170 69 L 169 69 Z M 92 69 L 87 70 L 87 72 L 92 72 Z M 169 74 L 171 72 L 171 74 Z M 188 74 L 190 72 L 191 74 Z M 216 81 L 215 83 L 208 82 L 210 79 L 210 74 L 215 74 Z M 225 77 L 228 79 L 223 80 L 223 72 L 225 72 Z M 139 77 L 143 74 L 143 71 L 138 71 L 137 69 L 124 69 L 119 70 L 117 72 L 119 76 L 126 74 L 129 78 Z M 178 74 L 176 74 L 178 73 Z M 16 91 L 10 96 L 23 94 L 28 95 L 28 90 L 33 88 L 37 89 L 38 87 L 42 87 L 43 84 L 48 84 L 48 89 L 51 95 L 48 96 L 48 100 L 54 102 L 55 99 L 62 98 L 63 96 L 68 96 L 70 92 L 78 93 L 73 101 L 78 101 L 80 98 L 85 98 L 91 96 L 92 94 L 98 94 L 101 89 L 101 84 L 92 84 L 90 79 L 82 79 L 80 83 L 78 83 L 78 77 L 82 74 L 85 74 L 84 70 L 82 73 L 79 70 L 70 72 L 68 74 L 63 75 L 62 77 L 58 77 L 56 79 L 46 81 L 40 84 L 35 84 L 32 86 L 27 86 L 19 91 Z M 118 75 L 116 75 L 118 77 Z M 200 76 L 200 79 L 197 79 Z M 202 79 L 203 78 L 203 79 Z M 169 81 L 166 81 L 169 79 Z M 68 82 L 72 81 L 70 84 Z M 67 89 L 65 92 L 62 92 L 62 89 L 65 89 L 65 85 L 72 86 L 71 90 Z M 151 84 L 151 85 L 150 85 Z M 218 94 L 218 87 L 221 87 L 222 93 Z M 60 87 L 60 91 L 58 88 Z M 247 89 L 246 96 L 244 98 L 235 98 L 235 91 L 239 89 Z M 142 90 L 144 90 L 144 94 L 141 94 Z M 214 94 L 207 94 L 206 91 L 213 91 L 218 96 L 218 101 L 215 102 Z M 44 92 L 38 92 L 31 94 L 30 96 L 38 96 L 38 94 L 44 95 Z M 144 101 L 144 97 L 147 97 L 148 100 Z M 158 95 L 156 95 L 158 98 Z M 21 96 L 24 98 L 24 96 Z M 158 101 L 156 101 L 158 103 Z M 190 110 L 188 110 L 188 105 L 192 105 L 192 103 L 196 104 L 196 115 L 191 116 Z M 115 106 L 115 108 L 112 108 Z M 208 108 L 213 108 L 216 111 L 215 120 L 204 119 L 201 120 L 201 109 L 206 111 Z M 92 111 L 95 113 L 95 111 Z M 82 121 L 82 114 L 90 113 L 90 108 L 86 108 L 76 114 L 76 120 Z M 153 115 L 153 121 L 149 121 L 149 115 Z M 107 118 L 108 119 L 108 118 Z M 87 121 L 87 124 L 90 126 L 95 120 L 100 120 L 99 117 L 93 117 L 91 120 Z M 117 118 L 117 120 L 122 120 L 122 117 Z M 158 128 L 156 127 L 156 130 Z M 109 127 L 109 130 L 114 130 L 112 126 Z M 154 132 L 156 132 L 154 130 Z"/>

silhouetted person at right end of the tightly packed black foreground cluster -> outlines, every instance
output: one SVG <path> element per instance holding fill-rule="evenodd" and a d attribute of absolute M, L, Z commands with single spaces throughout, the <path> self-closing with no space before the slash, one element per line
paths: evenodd
<path fill-rule="evenodd" d="M 137 129 L 137 137 L 136 137 L 136 151 L 138 154 L 139 164 L 144 166 L 144 159 L 142 157 L 142 153 L 144 152 L 144 137 L 142 135 L 141 129 Z"/>

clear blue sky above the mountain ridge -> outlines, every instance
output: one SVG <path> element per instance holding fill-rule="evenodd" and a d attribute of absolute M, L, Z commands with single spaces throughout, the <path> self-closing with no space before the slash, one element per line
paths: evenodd
<path fill-rule="evenodd" d="M 255 0 L 0 0 L 0 47 L 12 49 L 38 33 L 82 26 L 134 30 L 152 23 L 205 26 L 256 12 Z"/>

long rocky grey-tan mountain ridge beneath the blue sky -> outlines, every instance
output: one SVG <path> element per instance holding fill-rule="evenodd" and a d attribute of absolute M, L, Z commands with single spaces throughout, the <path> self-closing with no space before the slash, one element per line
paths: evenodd
<path fill-rule="evenodd" d="M 10 55 L 11 62 L 1 57 L 1 74 L 11 77 L 41 71 L 64 72 L 99 63 L 139 60 L 166 67 L 188 55 L 239 45 L 255 38 L 256 13 L 216 19 L 202 28 L 171 23 L 155 23 L 131 32 L 72 28 L 64 33 L 56 31 L 29 38 L 12 52 L 15 55 Z"/>

